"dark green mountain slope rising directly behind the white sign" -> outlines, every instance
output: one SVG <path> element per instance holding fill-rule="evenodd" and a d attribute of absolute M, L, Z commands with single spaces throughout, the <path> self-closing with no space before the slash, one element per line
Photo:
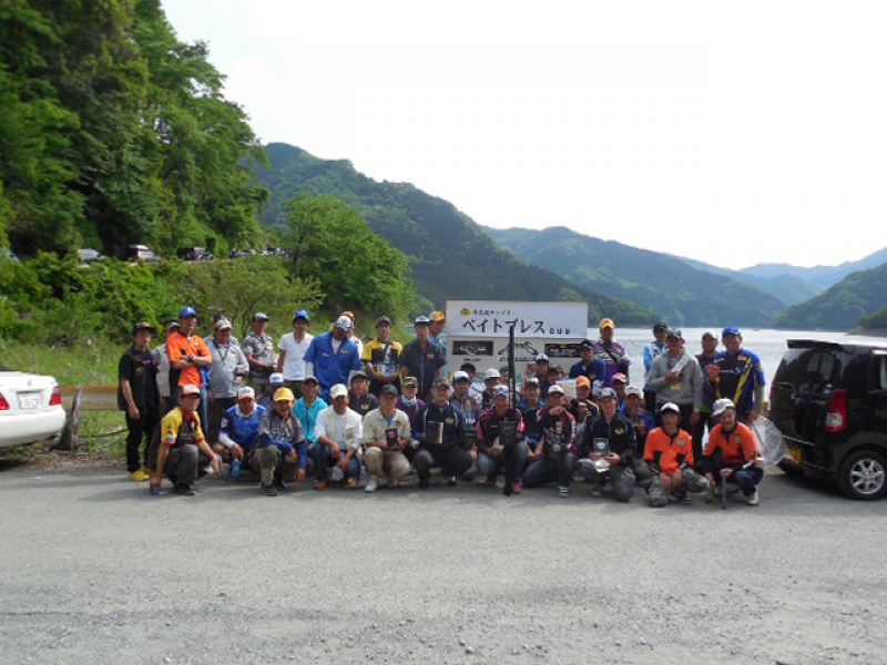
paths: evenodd
<path fill-rule="evenodd" d="M 462 298 L 587 300 L 593 321 L 611 316 L 622 324 L 649 324 L 656 317 L 655 308 L 594 293 L 519 260 L 451 203 L 410 184 L 379 183 L 347 161 L 319 160 L 283 143 L 272 143 L 265 152 L 268 167 L 256 167 L 258 182 L 271 191 L 262 215 L 265 224 L 277 227 L 285 202 L 298 192 L 340 198 L 407 255 L 416 289 L 437 307 Z"/>

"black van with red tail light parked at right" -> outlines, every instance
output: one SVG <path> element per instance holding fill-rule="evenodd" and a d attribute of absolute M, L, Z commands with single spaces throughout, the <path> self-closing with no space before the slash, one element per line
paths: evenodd
<path fill-rule="evenodd" d="M 837 481 L 852 499 L 887 493 L 887 344 L 792 339 L 771 385 L 786 472 Z"/>

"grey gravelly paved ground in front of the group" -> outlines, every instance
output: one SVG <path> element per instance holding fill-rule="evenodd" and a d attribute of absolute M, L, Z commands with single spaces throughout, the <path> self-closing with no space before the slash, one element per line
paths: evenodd
<path fill-rule="evenodd" d="M 887 501 L 0 472 L 0 663 L 887 663 Z"/>

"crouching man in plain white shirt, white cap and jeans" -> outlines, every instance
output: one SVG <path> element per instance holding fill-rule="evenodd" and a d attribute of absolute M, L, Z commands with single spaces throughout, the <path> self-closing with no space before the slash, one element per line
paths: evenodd
<path fill-rule="evenodd" d="M 315 490 L 329 487 L 327 469 L 333 467 L 333 481 L 354 485 L 360 475 L 360 448 L 364 442 L 364 419 L 348 408 L 348 389 L 336 383 L 329 390 L 332 407 L 317 417 L 314 433 L 317 439 L 312 447 Z"/>

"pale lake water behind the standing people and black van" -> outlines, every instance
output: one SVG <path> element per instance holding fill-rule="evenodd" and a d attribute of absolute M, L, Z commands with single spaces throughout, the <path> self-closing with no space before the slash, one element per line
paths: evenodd
<path fill-rule="evenodd" d="M 691 354 L 702 352 L 702 334 L 707 328 L 682 328 L 681 331 L 686 340 L 685 348 Z M 712 328 L 715 336 L 721 338 L 721 328 Z M 589 339 L 598 339 L 600 336 L 595 329 L 589 329 Z M 783 352 L 787 348 L 785 342 L 788 339 L 820 339 L 825 341 L 837 341 L 844 344 L 887 344 L 887 338 L 884 337 L 866 337 L 863 335 L 849 335 L 848 332 L 824 332 L 822 330 L 773 330 L 768 328 L 742 328 L 743 348 L 754 351 L 761 358 L 764 366 L 764 376 L 767 379 L 767 385 L 773 378 L 776 368 L 779 366 L 779 360 Z M 653 332 L 650 328 L 616 328 L 615 339 L 629 351 L 631 358 L 631 376 L 629 377 L 632 385 L 643 386 L 644 362 L 643 349 L 644 346 L 653 341 Z M 718 344 L 718 351 L 723 351 L 724 347 Z M 766 390 L 769 393 L 769 388 Z"/>

